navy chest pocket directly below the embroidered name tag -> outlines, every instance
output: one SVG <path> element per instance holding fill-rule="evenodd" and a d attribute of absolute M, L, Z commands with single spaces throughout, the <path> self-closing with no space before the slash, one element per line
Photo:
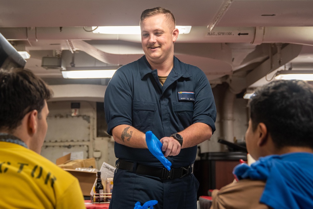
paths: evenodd
<path fill-rule="evenodd" d="M 182 125 L 182 127 L 180 128 L 185 129 L 192 124 L 193 103 L 190 102 L 174 103 L 174 111 L 178 121 Z"/>

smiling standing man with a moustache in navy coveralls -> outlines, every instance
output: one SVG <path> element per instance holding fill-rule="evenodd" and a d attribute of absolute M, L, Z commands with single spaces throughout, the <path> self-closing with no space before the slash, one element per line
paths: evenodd
<path fill-rule="evenodd" d="M 203 71 L 174 56 L 179 31 L 169 10 L 144 10 L 140 28 L 145 55 L 115 72 L 104 97 L 107 132 L 118 158 L 109 207 L 157 200 L 157 209 L 196 209 L 197 144 L 215 131 L 211 86 Z M 163 144 L 170 171 L 147 149 L 147 131 Z"/>

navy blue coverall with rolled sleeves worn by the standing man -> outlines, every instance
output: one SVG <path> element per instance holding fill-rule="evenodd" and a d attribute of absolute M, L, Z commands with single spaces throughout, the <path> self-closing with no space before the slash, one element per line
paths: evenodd
<path fill-rule="evenodd" d="M 209 81 L 198 67 L 174 57 L 174 67 L 164 85 L 157 70 L 151 70 L 145 56 L 120 67 L 110 80 L 104 97 L 108 133 L 126 124 L 143 133 L 152 131 L 159 139 L 180 132 L 193 123 L 206 123 L 215 131 L 216 107 Z M 163 168 L 148 149 L 130 148 L 115 142 L 115 156 L 137 164 Z M 171 168 L 192 165 L 197 146 L 169 156 Z M 196 209 L 199 182 L 193 174 L 183 178 L 161 180 L 117 169 L 113 180 L 110 208 L 132 208 L 157 200 L 160 208 Z"/>

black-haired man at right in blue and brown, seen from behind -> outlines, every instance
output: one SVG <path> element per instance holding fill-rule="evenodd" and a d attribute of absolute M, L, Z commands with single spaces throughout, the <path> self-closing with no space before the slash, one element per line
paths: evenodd
<path fill-rule="evenodd" d="M 313 208 L 313 87 L 272 81 L 249 102 L 246 132 L 257 161 L 237 165 L 237 181 L 212 192 L 211 209 Z"/>

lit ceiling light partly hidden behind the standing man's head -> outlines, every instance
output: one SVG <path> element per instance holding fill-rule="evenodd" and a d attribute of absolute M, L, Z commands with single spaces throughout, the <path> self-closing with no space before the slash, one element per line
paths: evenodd
<path fill-rule="evenodd" d="M 92 26 L 95 34 L 141 34 L 140 26 Z M 191 26 L 176 25 L 180 34 L 189 34 Z"/>

